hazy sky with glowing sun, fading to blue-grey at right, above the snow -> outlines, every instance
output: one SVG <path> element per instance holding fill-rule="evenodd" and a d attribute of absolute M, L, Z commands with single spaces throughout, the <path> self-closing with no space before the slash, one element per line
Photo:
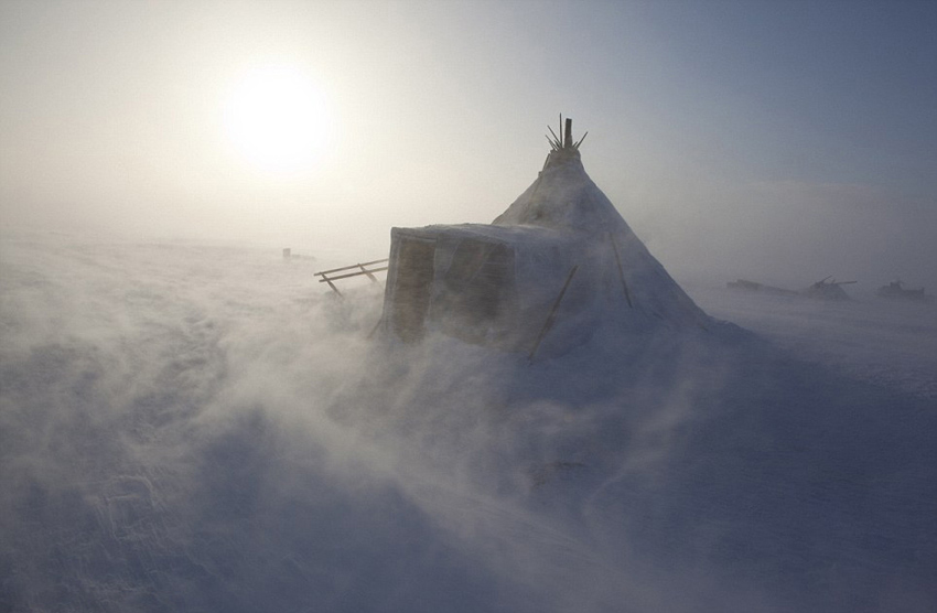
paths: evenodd
<path fill-rule="evenodd" d="M 4 229 L 370 259 L 493 219 L 560 112 L 678 278 L 937 290 L 933 0 L 0 0 Z"/>

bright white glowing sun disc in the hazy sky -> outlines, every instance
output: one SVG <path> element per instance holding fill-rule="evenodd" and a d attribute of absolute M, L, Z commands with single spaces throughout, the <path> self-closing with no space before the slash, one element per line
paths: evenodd
<path fill-rule="evenodd" d="M 322 93 L 300 71 L 281 65 L 241 78 L 225 105 L 225 128 L 248 162 L 272 173 L 310 169 L 333 136 Z"/>

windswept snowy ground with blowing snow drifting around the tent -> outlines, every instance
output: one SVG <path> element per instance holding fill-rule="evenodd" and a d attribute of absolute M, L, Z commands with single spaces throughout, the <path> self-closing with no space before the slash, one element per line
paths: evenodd
<path fill-rule="evenodd" d="M 935 305 L 530 365 L 333 264 L 0 240 L 0 611 L 937 609 Z"/>

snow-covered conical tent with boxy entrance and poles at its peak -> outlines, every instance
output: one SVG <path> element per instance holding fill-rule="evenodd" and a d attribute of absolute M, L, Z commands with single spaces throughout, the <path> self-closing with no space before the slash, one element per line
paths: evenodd
<path fill-rule="evenodd" d="M 391 229 L 385 332 L 557 354 L 599 330 L 708 326 L 585 173 L 567 119 L 537 180 L 492 224 Z"/>

